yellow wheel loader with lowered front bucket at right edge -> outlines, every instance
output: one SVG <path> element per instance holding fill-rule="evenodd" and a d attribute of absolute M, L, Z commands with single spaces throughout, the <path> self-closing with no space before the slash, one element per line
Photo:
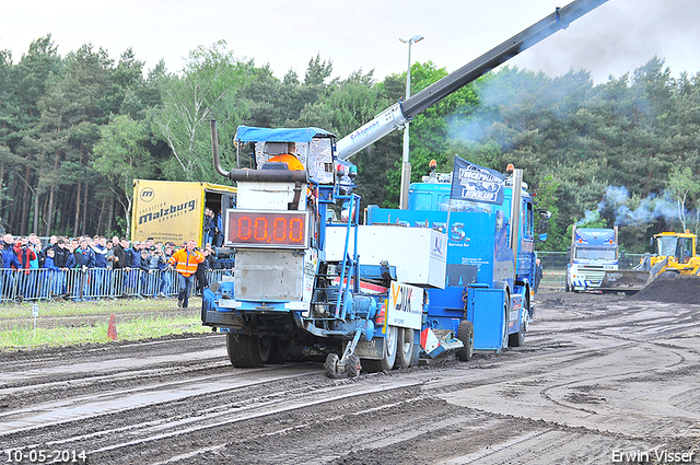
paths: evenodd
<path fill-rule="evenodd" d="M 634 269 L 606 271 L 600 288 L 630 294 L 641 291 L 662 274 L 700 276 L 697 241 L 698 236 L 690 231 L 654 234 L 654 252 L 645 255 Z"/>

